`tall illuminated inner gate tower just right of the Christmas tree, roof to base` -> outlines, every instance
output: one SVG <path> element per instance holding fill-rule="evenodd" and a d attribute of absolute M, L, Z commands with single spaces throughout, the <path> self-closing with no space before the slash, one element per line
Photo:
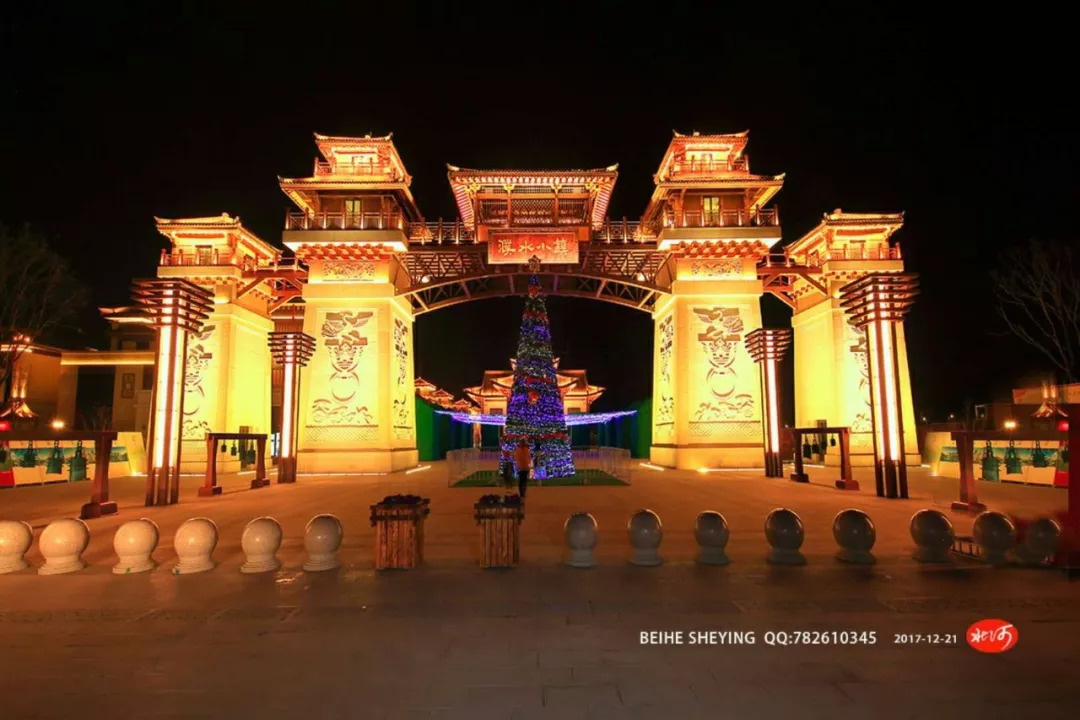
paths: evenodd
<path fill-rule="evenodd" d="M 768 203 L 783 175 L 754 175 L 746 133 L 678 135 L 642 217 L 672 254 L 654 321 L 653 463 L 693 470 L 764 464 L 761 391 L 746 336 L 761 327 L 758 263 L 780 241 Z"/>

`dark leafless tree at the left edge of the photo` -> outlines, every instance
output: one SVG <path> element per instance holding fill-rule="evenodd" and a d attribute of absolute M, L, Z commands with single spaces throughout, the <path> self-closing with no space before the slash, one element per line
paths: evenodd
<path fill-rule="evenodd" d="M 0 399 L 28 345 L 49 342 L 85 301 L 70 263 L 44 236 L 0 225 Z"/>

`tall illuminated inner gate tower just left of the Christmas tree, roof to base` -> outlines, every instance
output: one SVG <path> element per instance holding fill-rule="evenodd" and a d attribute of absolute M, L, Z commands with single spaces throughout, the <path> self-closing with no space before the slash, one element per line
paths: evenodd
<path fill-rule="evenodd" d="M 308 267 L 297 472 L 390 472 L 417 464 L 413 309 L 397 294 L 397 255 L 420 219 L 413 178 L 390 136 L 315 136 L 325 160 L 280 178 L 299 208 L 283 240 Z"/>

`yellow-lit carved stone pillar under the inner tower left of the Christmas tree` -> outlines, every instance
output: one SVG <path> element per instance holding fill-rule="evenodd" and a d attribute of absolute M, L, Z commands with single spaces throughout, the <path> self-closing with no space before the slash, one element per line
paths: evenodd
<path fill-rule="evenodd" d="M 389 473 L 415 466 L 413 311 L 389 258 L 309 260 L 303 331 L 315 338 L 300 378 L 297 471 Z"/>

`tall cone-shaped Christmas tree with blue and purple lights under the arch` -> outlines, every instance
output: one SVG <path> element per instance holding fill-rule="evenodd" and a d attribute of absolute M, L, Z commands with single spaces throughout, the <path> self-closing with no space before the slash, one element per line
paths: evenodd
<path fill-rule="evenodd" d="M 539 269 L 534 258 L 529 268 Z M 502 435 L 503 463 L 512 462 L 517 443 L 525 439 L 540 477 L 573 475 L 570 433 L 566 429 L 563 396 L 555 381 L 555 358 L 551 352 L 548 308 L 540 293 L 540 281 L 529 277 L 522 334 L 517 340 L 514 384 L 507 408 L 507 427 Z"/>

